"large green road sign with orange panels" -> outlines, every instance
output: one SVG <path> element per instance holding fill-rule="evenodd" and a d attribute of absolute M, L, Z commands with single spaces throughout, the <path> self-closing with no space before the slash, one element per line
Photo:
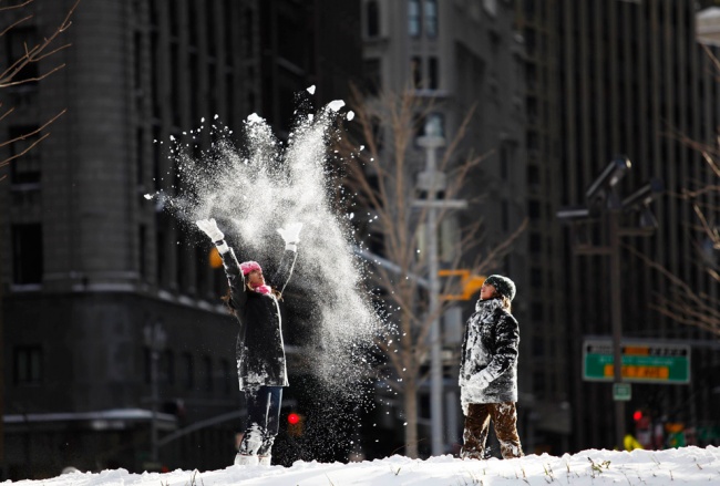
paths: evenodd
<path fill-rule="evenodd" d="M 623 381 L 628 383 L 690 383 L 690 347 L 623 341 Z M 583 343 L 583 380 L 610 382 L 615 376 L 613 341 Z"/>

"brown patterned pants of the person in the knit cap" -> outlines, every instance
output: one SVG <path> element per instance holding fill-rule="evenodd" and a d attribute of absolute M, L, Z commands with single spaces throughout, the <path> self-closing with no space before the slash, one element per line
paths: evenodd
<path fill-rule="evenodd" d="M 503 458 L 522 457 L 523 447 L 517 435 L 517 413 L 514 402 L 505 403 L 471 403 L 465 416 L 463 448 L 460 457 L 470 459 L 485 458 L 485 442 L 490 432 L 490 420 L 495 426 L 495 435 L 500 441 L 500 452 Z"/>

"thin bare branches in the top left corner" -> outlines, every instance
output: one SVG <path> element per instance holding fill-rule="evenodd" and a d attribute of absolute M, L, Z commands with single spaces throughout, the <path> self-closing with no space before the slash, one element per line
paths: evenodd
<path fill-rule="evenodd" d="M 13 30 L 20 29 L 25 24 L 32 22 L 34 13 L 32 12 L 32 3 L 34 0 L 24 0 L 13 6 L 0 7 L 0 14 L 9 20 L 8 25 L 0 25 L 2 31 L 0 31 L 0 40 L 6 39 Z M 80 0 L 76 0 L 75 3 L 70 8 L 65 18 L 62 22 L 52 31 L 52 33 L 38 41 L 33 45 L 28 45 L 23 43 L 23 52 L 16 60 L 11 61 L 11 64 L 3 69 L 0 73 L 0 89 L 12 89 L 21 84 L 37 83 L 54 72 L 60 71 L 65 66 L 64 63 L 56 64 L 43 73 L 38 73 L 38 70 L 30 70 L 31 66 L 37 66 L 43 60 L 51 58 L 58 52 L 68 49 L 69 43 L 60 44 L 60 35 L 70 28 L 71 17 L 74 13 Z M 14 112 L 14 106 L 4 106 L 0 102 L 0 122 L 8 118 Z M 21 152 L 11 155 L 2 161 L 0 161 L 0 167 L 8 166 L 12 161 L 23 156 L 30 152 L 35 145 L 45 139 L 50 133 L 47 131 L 48 126 L 55 122 L 60 116 L 65 113 L 65 110 L 60 111 L 58 114 L 53 115 L 50 120 L 45 121 L 39 128 L 30 131 L 28 133 L 22 133 L 20 135 L 12 136 L 10 139 L 0 142 L 0 147 L 16 144 L 21 141 L 32 139 L 30 144 L 24 146 Z M 35 138 L 37 137 L 37 138 Z M 6 176 L 1 176 L 2 180 Z"/>

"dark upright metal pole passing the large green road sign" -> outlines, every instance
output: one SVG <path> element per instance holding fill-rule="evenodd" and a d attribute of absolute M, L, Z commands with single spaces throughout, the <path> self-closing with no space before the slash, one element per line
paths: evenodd
<path fill-rule="evenodd" d="M 620 300 L 623 292 L 620 289 L 620 244 L 618 231 L 619 213 L 608 210 L 608 237 L 610 242 L 610 319 L 613 321 L 613 364 L 614 364 L 614 383 L 623 383 L 623 310 Z M 615 386 L 615 385 L 614 385 Z M 614 397 L 615 400 L 615 397 Z M 615 438 L 618 451 L 623 451 L 625 438 L 625 402 L 615 400 Z"/>

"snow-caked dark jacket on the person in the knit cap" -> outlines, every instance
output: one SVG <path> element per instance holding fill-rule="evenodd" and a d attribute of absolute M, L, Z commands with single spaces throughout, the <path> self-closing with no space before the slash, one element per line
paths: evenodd
<path fill-rule="evenodd" d="M 501 299 L 479 300 L 467 320 L 461 351 L 460 386 L 463 407 L 467 403 L 517 402 L 517 320 Z M 476 376 L 486 370 L 487 387 Z M 475 378 L 475 380 L 474 380 Z"/>

